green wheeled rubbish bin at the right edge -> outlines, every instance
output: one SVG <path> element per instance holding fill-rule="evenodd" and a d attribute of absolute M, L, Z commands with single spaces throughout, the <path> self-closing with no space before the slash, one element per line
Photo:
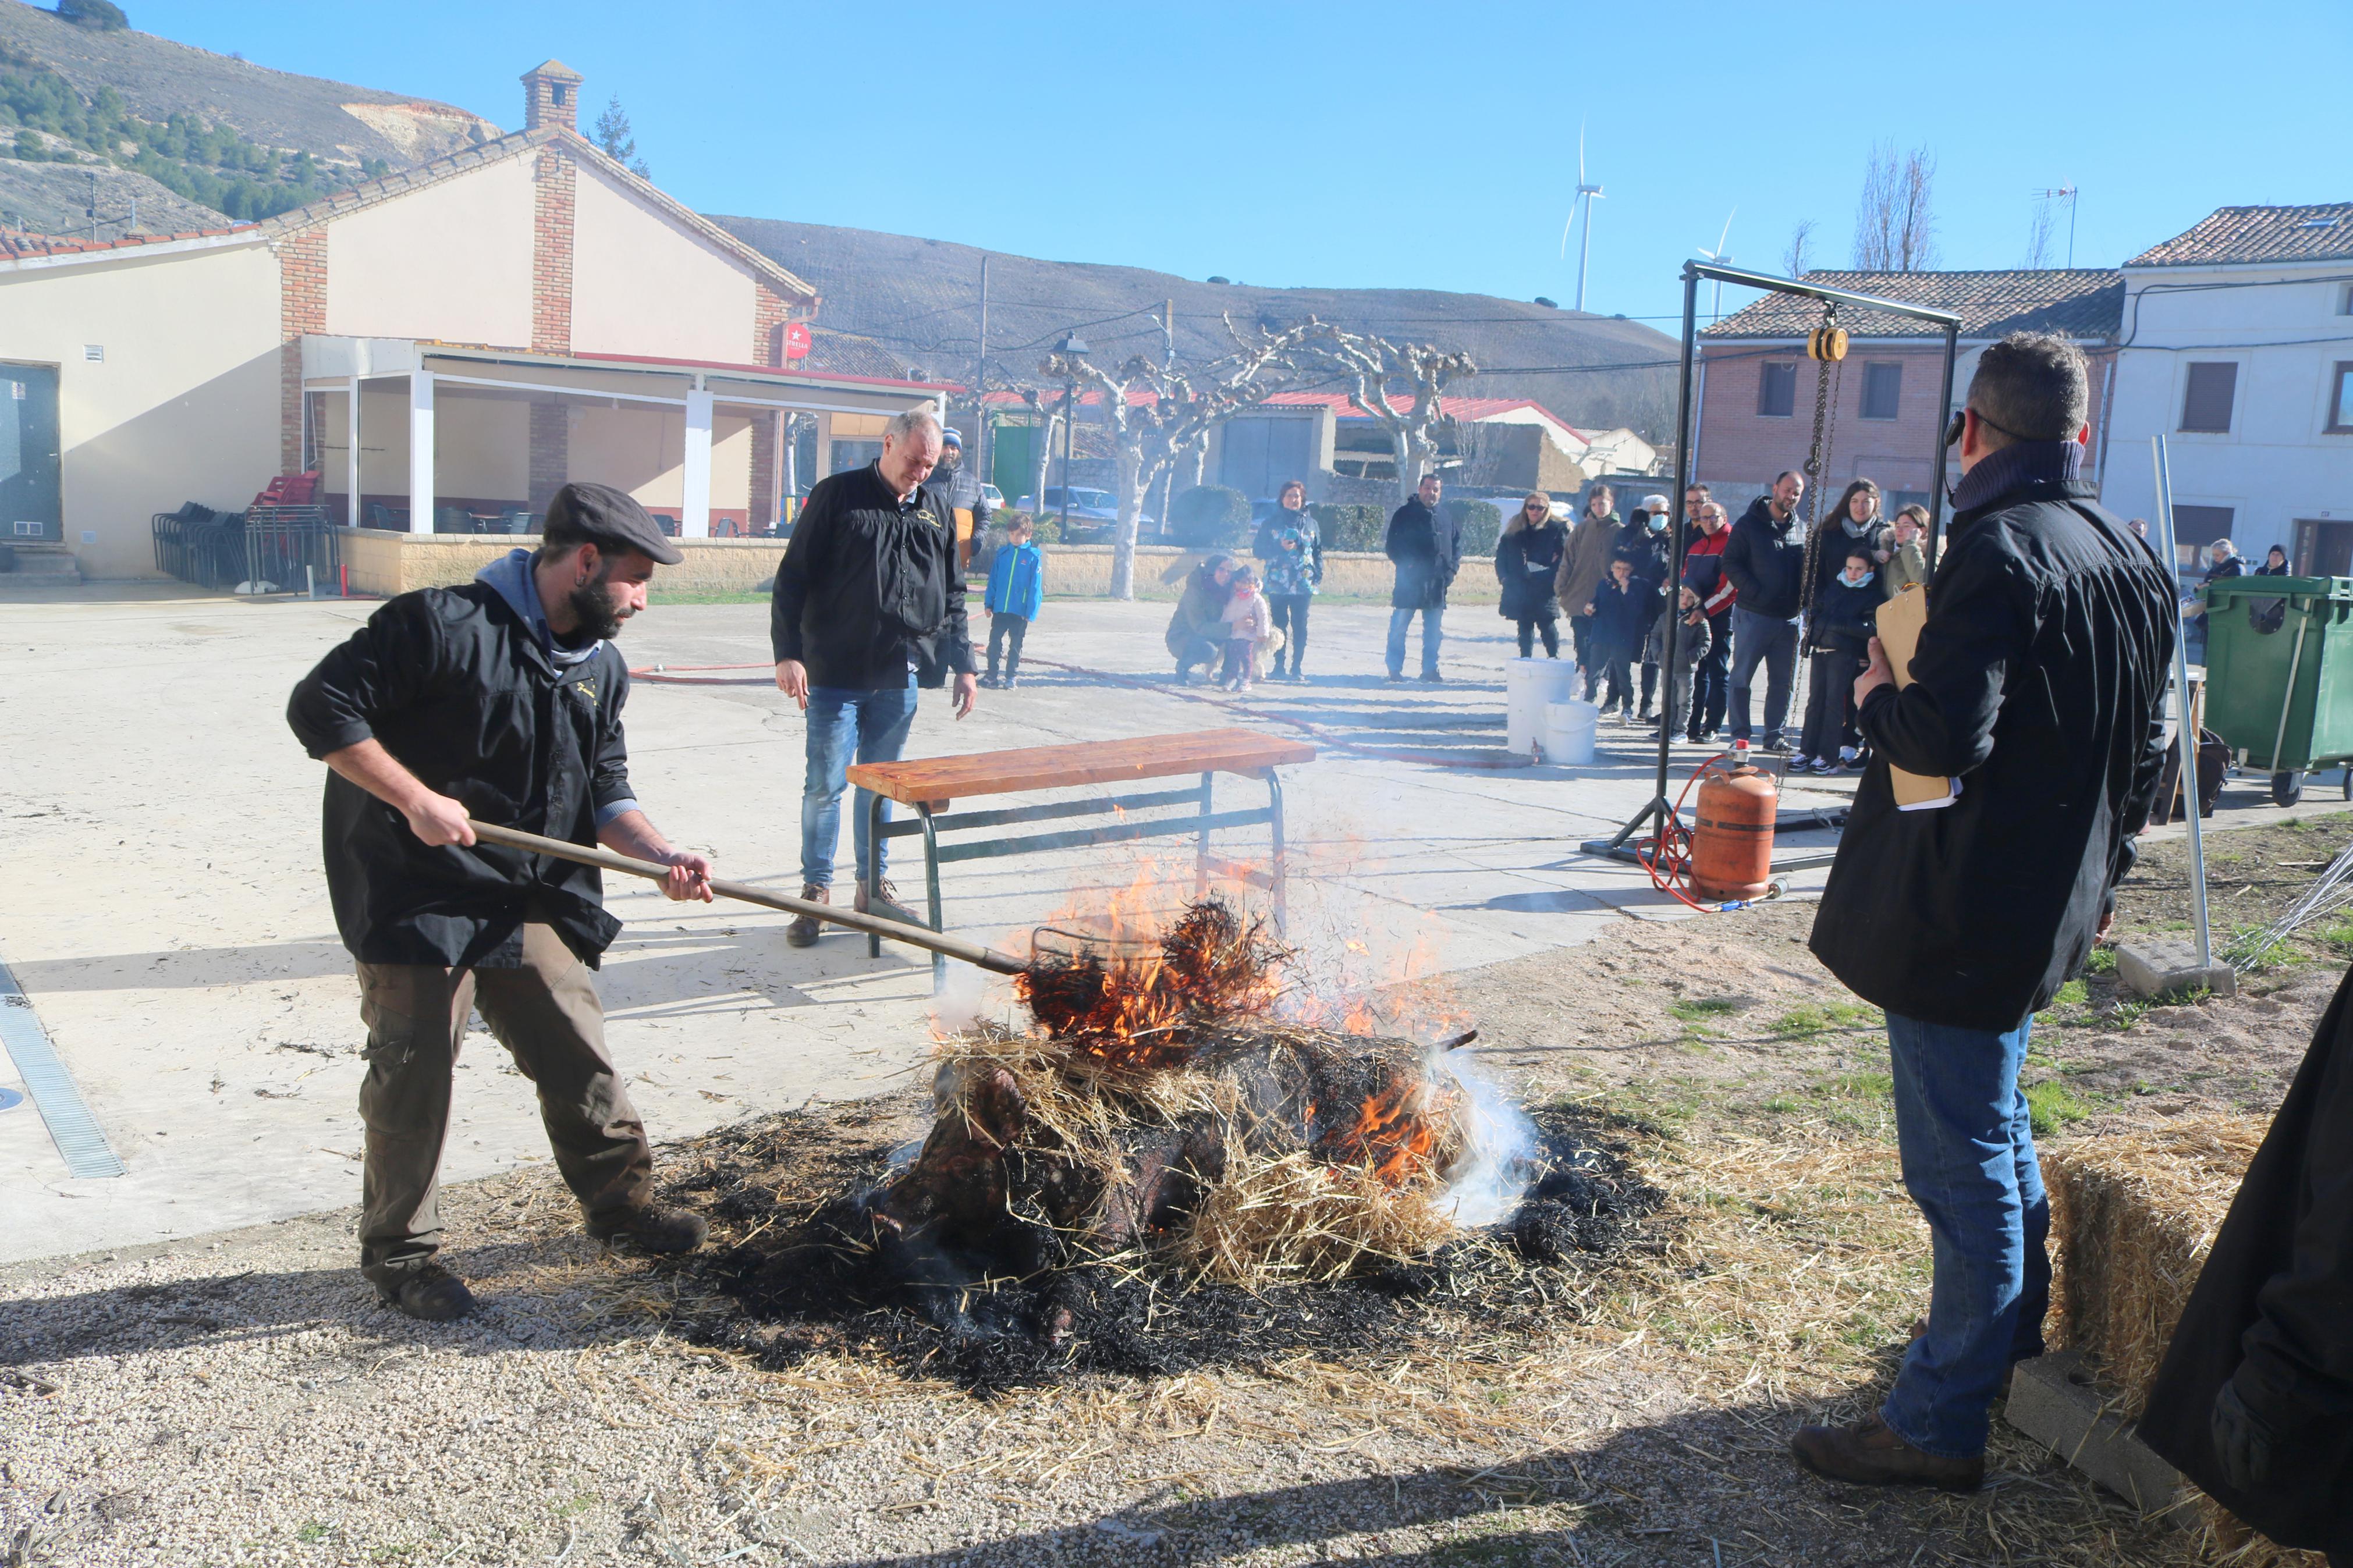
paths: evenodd
<path fill-rule="evenodd" d="M 2207 729 L 2294 806 L 2304 776 L 2346 769 L 2353 799 L 2353 578 L 2207 583 Z"/>

